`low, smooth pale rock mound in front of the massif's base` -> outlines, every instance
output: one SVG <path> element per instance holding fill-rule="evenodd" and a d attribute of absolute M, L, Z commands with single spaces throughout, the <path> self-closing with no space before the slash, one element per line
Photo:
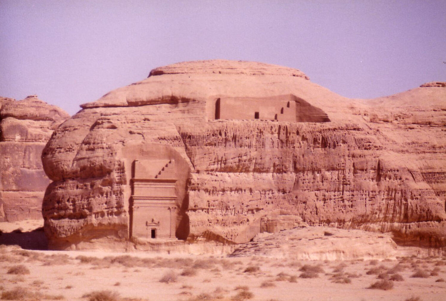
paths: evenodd
<path fill-rule="evenodd" d="M 252 242 L 238 245 L 231 254 L 294 260 L 395 259 L 404 255 L 390 235 L 329 227 L 297 227 L 259 234 Z"/>

